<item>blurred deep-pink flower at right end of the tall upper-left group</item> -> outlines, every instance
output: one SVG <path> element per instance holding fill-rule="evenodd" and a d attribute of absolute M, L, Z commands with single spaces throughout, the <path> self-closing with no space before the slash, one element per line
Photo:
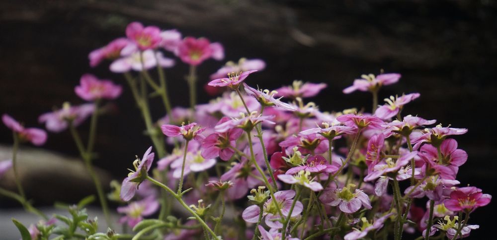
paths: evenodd
<path fill-rule="evenodd" d="M 215 60 L 224 59 L 223 46 L 220 43 L 211 43 L 206 38 L 184 38 L 183 41 L 179 43 L 175 54 L 183 62 L 194 66 L 199 65 L 209 58 Z"/>

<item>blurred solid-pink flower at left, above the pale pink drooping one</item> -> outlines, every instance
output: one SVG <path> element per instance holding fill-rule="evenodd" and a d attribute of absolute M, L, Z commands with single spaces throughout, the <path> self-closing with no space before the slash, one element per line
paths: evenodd
<path fill-rule="evenodd" d="M 99 80 L 94 75 L 84 74 L 80 85 L 74 88 L 76 94 L 86 100 L 116 99 L 121 95 L 122 87 L 115 85 L 110 80 Z"/>

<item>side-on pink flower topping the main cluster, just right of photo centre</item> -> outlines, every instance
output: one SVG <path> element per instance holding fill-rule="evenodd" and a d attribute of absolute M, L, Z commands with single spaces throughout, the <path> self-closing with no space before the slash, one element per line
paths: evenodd
<path fill-rule="evenodd" d="M 302 81 L 293 81 L 292 86 L 284 86 L 276 89 L 277 92 L 275 97 L 286 97 L 295 99 L 300 98 L 311 98 L 325 89 L 328 85 L 326 83 L 302 83 Z"/>

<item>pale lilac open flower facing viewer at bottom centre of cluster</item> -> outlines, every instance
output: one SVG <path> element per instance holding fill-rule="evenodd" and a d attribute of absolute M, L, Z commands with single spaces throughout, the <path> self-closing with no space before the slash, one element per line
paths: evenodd
<path fill-rule="evenodd" d="M 268 199 L 264 203 L 262 216 L 265 217 L 265 223 L 270 228 L 280 229 L 283 227 L 283 224 L 277 222 L 277 219 L 280 219 L 278 209 L 276 204 L 281 209 L 281 213 L 283 216 L 287 217 L 290 214 L 290 208 L 292 207 L 293 198 L 295 197 L 294 190 L 283 190 L 277 191 L 274 193 L 275 199 Z M 302 213 L 304 206 L 300 201 L 295 203 L 295 206 L 292 211 L 291 217 L 296 217 Z M 242 213 L 242 218 L 248 223 L 257 223 L 259 219 L 260 208 L 257 205 L 251 205 L 244 210 Z"/>

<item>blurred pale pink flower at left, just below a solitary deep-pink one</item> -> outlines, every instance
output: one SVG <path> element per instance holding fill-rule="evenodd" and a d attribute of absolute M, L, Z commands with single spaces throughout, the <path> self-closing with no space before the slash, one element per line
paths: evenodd
<path fill-rule="evenodd" d="M 45 127 L 51 132 L 61 132 L 72 122 L 74 126 L 83 123 L 93 112 L 95 105 L 91 103 L 82 104 L 79 106 L 71 106 L 69 103 L 64 103 L 62 109 L 55 110 L 51 113 L 42 114 L 38 121 L 45 122 Z"/>

